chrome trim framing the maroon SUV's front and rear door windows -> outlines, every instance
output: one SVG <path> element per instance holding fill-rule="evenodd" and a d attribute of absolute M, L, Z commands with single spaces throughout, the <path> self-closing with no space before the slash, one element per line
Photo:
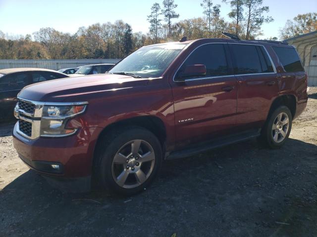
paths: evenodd
<path fill-rule="evenodd" d="M 178 70 L 183 66 L 183 64 L 185 63 L 185 61 L 187 60 L 187 58 L 196 50 L 198 49 L 199 47 L 201 46 L 204 46 L 206 44 L 245 44 L 245 45 L 256 45 L 256 46 L 262 46 L 269 58 L 269 61 L 271 62 L 272 64 L 272 68 L 273 68 L 273 71 L 272 73 L 250 73 L 250 74 L 232 74 L 232 75 L 225 75 L 225 76 L 215 76 L 215 77 L 204 77 L 204 78 L 190 78 L 190 79 L 185 79 L 185 80 L 177 80 L 175 81 L 175 76 L 178 72 Z M 271 58 L 271 56 L 269 55 L 268 51 L 266 50 L 266 48 L 264 47 L 264 45 L 262 44 L 253 44 L 253 43 L 225 43 L 225 42 L 213 42 L 213 43 L 204 43 L 204 44 L 201 44 L 199 46 L 197 46 L 186 58 L 185 60 L 182 62 L 182 64 L 178 67 L 178 69 L 176 70 L 174 76 L 173 76 L 173 81 L 174 82 L 182 82 L 182 81 L 191 81 L 191 80 L 204 80 L 204 79 L 213 79 L 213 78 L 226 78 L 226 77 L 239 77 L 239 76 L 251 76 L 251 75 L 267 75 L 267 74 L 276 74 L 276 68 L 275 68 L 275 65 L 273 63 L 273 60 Z"/>

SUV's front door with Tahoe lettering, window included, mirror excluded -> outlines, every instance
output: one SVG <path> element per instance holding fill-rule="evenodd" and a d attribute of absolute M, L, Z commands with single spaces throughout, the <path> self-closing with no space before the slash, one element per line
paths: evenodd
<path fill-rule="evenodd" d="M 229 57 L 226 43 L 204 44 L 175 74 L 172 90 L 177 148 L 224 135 L 235 126 L 237 82 Z M 178 78 L 187 65 L 197 64 L 206 66 L 206 76 Z"/>

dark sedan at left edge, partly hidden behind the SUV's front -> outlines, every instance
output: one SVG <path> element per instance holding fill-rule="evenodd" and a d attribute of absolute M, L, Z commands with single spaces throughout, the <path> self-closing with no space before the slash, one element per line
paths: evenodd
<path fill-rule="evenodd" d="M 13 118 L 13 109 L 17 103 L 16 96 L 29 84 L 68 78 L 69 76 L 49 69 L 10 68 L 0 70 L 0 122 Z"/>

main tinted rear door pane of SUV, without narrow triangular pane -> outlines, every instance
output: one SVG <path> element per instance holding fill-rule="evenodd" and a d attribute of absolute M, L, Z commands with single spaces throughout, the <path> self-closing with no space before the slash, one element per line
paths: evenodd
<path fill-rule="evenodd" d="M 234 63 L 234 74 L 263 73 L 256 45 L 231 44 Z"/>

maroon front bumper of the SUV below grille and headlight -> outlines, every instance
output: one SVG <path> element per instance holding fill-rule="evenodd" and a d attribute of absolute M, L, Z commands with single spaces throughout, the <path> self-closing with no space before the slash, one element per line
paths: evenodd
<path fill-rule="evenodd" d="M 72 136 L 30 140 L 17 133 L 15 124 L 13 145 L 24 163 L 45 177 L 63 184 L 82 180 L 87 186 L 94 148 L 101 130 L 99 127 L 82 127 Z M 59 169 L 53 169 L 52 164 L 59 165 Z"/>

